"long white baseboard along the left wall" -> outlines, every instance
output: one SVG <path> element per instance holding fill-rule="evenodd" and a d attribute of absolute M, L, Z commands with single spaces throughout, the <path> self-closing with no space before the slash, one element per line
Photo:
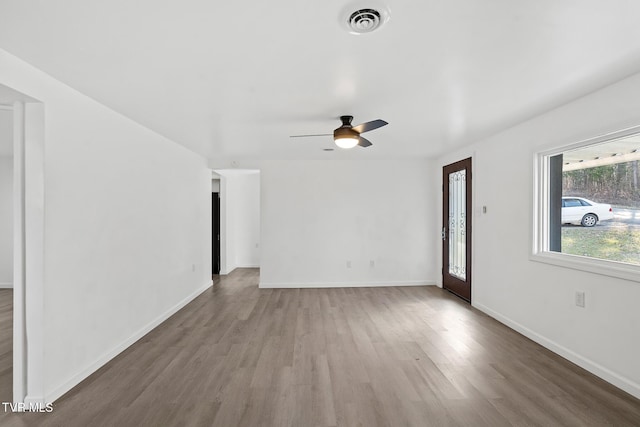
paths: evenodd
<path fill-rule="evenodd" d="M 143 326 L 141 329 L 134 332 L 128 339 L 123 341 L 121 344 L 117 345 L 110 351 L 106 352 L 104 355 L 99 357 L 95 362 L 91 365 L 73 375 L 69 380 L 64 382 L 63 384 L 56 387 L 53 391 L 47 394 L 45 399 L 42 401 L 46 401 L 47 403 L 52 403 L 56 399 L 60 398 L 63 394 L 71 390 L 76 385 L 80 384 L 85 378 L 89 375 L 93 374 L 111 359 L 116 357 L 118 354 L 122 353 L 128 347 L 130 347 L 133 343 L 138 341 L 140 338 L 151 332 L 154 328 L 160 325 L 162 322 L 167 320 L 169 317 L 174 315 L 177 311 L 183 308 L 185 305 L 189 304 L 193 301 L 198 295 L 209 289 L 213 285 L 213 282 L 208 281 L 204 286 L 192 292 L 189 296 L 184 298 L 182 301 L 178 302 L 173 307 L 169 308 L 167 311 L 156 317 L 154 320 Z M 25 402 L 27 402 L 27 398 L 25 398 Z"/>

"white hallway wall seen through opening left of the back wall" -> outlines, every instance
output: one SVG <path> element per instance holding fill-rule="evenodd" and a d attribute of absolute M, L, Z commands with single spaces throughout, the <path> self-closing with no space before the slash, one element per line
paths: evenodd
<path fill-rule="evenodd" d="M 260 267 L 260 173 L 217 170 L 220 176 L 220 274 Z"/>

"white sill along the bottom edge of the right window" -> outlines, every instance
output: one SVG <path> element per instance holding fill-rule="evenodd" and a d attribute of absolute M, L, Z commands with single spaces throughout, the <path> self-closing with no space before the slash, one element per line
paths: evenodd
<path fill-rule="evenodd" d="M 616 261 L 607 261 L 597 258 L 582 257 L 578 255 L 562 254 L 558 252 L 538 252 L 530 256 L 532 261 L 559 267 L 601 274 L 603 276 L 617 277 L 619 279 L 640 282 L 640 266 L 625 264 Z"/>

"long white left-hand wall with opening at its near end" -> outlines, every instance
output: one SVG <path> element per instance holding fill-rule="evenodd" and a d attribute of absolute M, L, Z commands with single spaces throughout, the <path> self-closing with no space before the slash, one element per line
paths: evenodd
<path fill-rule="evenodd" d="M 44 398 L 211 285 L 205 159 L 0 50 L 0 84 L 44 103 Z"/>

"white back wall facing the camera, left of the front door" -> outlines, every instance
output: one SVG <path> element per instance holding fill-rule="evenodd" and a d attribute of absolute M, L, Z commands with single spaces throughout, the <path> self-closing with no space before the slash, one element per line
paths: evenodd
<path fill-rule="evenodd" d="M 431 170 L 426 160 L 263 162 L 260 286 L 433 284 Z"/>

